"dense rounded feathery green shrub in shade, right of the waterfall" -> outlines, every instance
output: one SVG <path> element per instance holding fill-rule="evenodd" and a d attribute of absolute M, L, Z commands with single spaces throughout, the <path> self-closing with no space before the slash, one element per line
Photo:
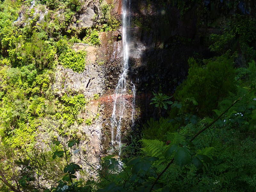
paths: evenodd
<path fill-rule="evenodd" d="M 231 60 L 217 58 L 209 60 L 205 66 L 199 66 L 195 59 L 188 60 L 188 78 L 177 88 L 174 97 L 183 105 L 186 98 L 194 98 L 199 115 L 211 115 L 218 102 L 235 89 L 235 70 Z M 184 105 L 185 106 L 185 105 Z M 186 111 L 195 111 L 195 106 L 185 106 Z"/>

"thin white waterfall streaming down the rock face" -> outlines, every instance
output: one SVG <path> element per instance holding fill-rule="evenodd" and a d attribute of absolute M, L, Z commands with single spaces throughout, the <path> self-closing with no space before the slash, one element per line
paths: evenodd
<path fill-rule="evenodd" d="M 121 154 L 121 139 L 122 139 L 121 124 L 122 124 L 122 118 L 124 116 L 125 96 L 127 95 L 126 77 L 127 77 L 127 72 L 129 68 L 129 45 L 128 45 L 129 43 L 128 43 L 127 36 L 128 36 L 128 27 L 130 26 L 130 6 L 131 6 L 130 0 L 123 0 L 123 5 L 122 5 L 122 12 L 123 12 L 122 41 L 123 41 L 123 49 L 124 49 L 123 73 L 116 86 L 115 101 L 114 101 L 112 120 L 111 120 L 111 143 L 113 145 L 114 142 L 116 141 L 116 145 L 119 150 L 119 155 Z M 135 85 L 133 87 L 134 87 L 133 90 L 135 90 Z M 132 106 L 134 105 L 132 104 Z M 133 110 L 132 110 L 132 117 L 133 117 Z"/>

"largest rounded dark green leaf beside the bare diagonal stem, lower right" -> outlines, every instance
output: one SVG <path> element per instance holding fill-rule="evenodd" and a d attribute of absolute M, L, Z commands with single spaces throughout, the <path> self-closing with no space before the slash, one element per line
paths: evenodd
<path fill-rule="evenodd" d="M 174 160 L 176 164 L 180 166 L 189 164 L 191 162 L 191 156 L 188 148 L 185 148 L 185 147 L 177 148 L 177 152 L 174 156 Z"/>

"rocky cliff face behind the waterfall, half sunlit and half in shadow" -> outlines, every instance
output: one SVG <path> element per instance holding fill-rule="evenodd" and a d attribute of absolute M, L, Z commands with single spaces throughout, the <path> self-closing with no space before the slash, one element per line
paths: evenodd
<path fill-rule="evenodd" d="M 216 15 L 230 17 L 236 12 L 252 12 L 253 4 L 244 2 L 242 6 L 242 1 L 239 2 L 234 5 L 236 8 L 228 8 L 228 4 L 223 1 L 202 1 L 201 4 L 189 5 L 188 9 L 183 7 L 186 11 L 182 12 L 182 8 L 178 9 L 177 4 L 172 1 L 156 3 L 131 0 L 131 26 L 128 32 L 131 67 L 125 96 L 126 111 L 122 120 L 124 143 L 132 124 L 133 95 L 130 82 L 136 86 L 135 116 L 136 122 L 141 124 L 149 117 L 157 116 L 154 106 L 149 105 L 152 91 L 171 95 L 187 75 L 189 57 L 207 59 L 213 55 L 208 49 L 207 39 L 210 33 L 220 33 L 219 26 L 223 24 Z M 121 20 L 122 1 L 109 0 L 107 3 L 112 5 L 111 15 Z M 93 13 L 98 19 L 101 17 L 99 2 L 86 1 L 85 4 L 87 8 L 73 18 L 73 27 L 81 31 L 95 25 Z M 218 24 L 213 24 L 214 22 Z M 78 35 L 83 36 L 83 32 Z M 113 93 L 123 64 L 121 26 L 115 31 L 100 32 L 99 38 L 99 46 L 75 43 L 73 50 L 87 52 L 84 72 L 76 73 L 58 66 L 51 86 L 58 97 L 64 93 L 82 93 L 87 98 L 93 98 L 88 102 L 86 111 L 81 114 L 82 118 L 90 118 L 92 122 L 73 127 L 78 130 L 78 138 L 86 137 L 80 147 L 84 151 L 90 151 L 92 162 L 97 162 L 99 156 L 106 152 L 105 149 L 112 145 L 110 121 L 115 97 Z"/>

